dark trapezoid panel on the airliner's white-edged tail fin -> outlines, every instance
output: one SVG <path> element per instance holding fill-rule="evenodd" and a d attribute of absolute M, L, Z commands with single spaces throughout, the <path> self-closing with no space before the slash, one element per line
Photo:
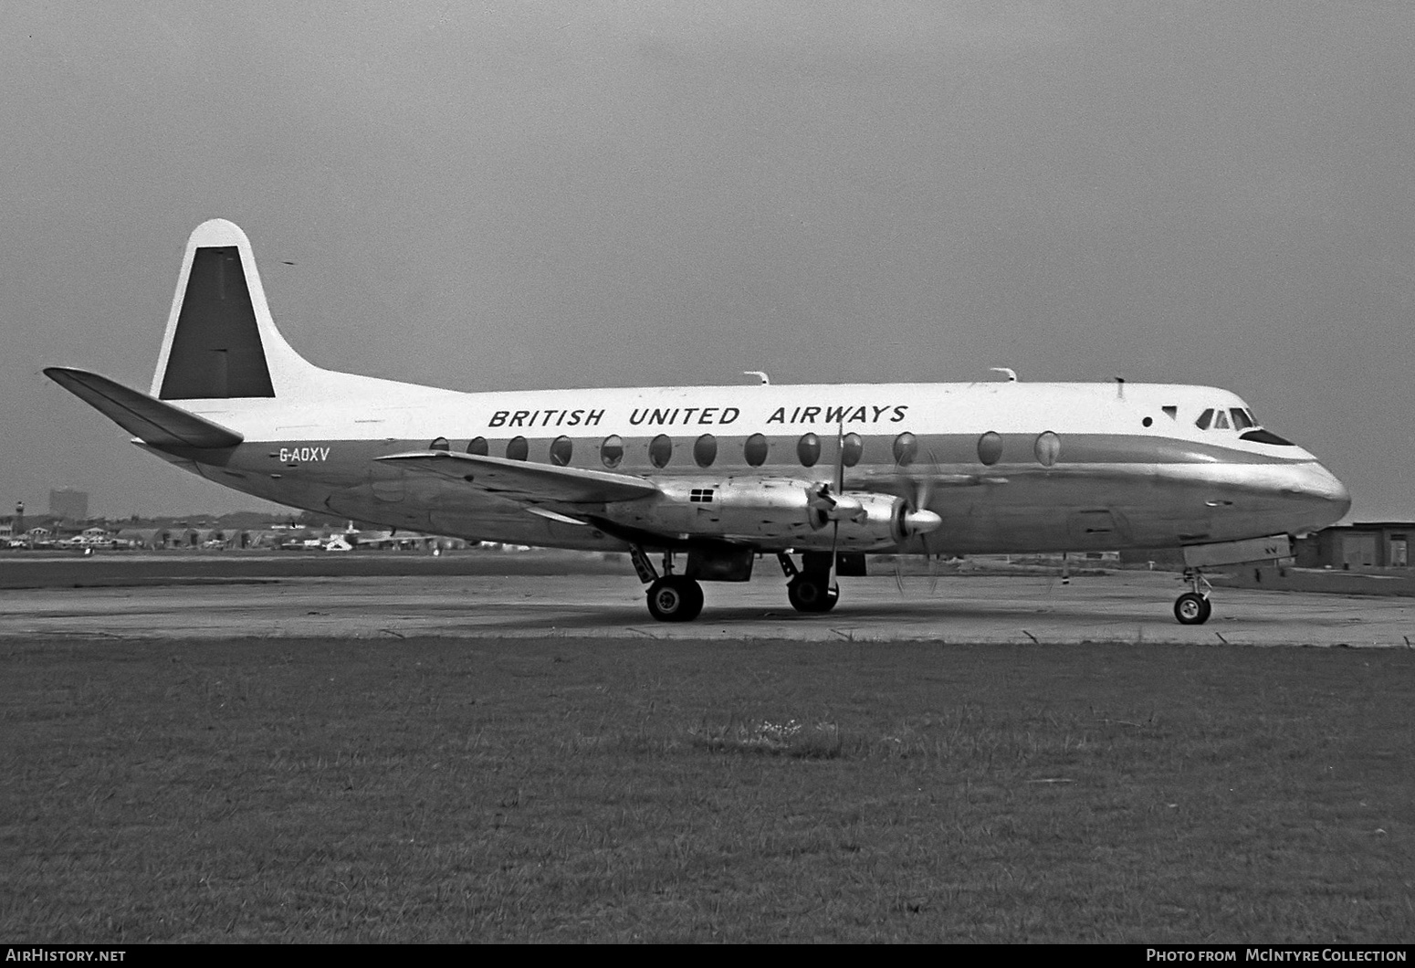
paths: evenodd
<path fill-rule="evenodd" d="M 204 246 L 192 253 L 157 396 L 275 396 L 238 246 Z"/>

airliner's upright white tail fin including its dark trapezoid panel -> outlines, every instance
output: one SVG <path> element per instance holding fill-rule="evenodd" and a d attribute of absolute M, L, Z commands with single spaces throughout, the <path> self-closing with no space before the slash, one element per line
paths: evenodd
<path fill-rule="evenodd" d="M 151 396 L 287 396 L 316 372 L 276 330 L 246 234 L 222 218 L 198 225 L 187 241 Z"/>

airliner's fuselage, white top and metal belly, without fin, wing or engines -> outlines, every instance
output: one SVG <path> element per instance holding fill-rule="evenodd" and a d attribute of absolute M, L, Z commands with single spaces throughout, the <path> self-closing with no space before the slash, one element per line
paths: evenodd
<path fill-rule="evenodd" d="M 621 551 L 625 542 L 376 459 L 436 442 L 457 451 L 470 446 L 494 457 L 641 476 L 685 497 L 695 490 L 726 497 L 734 485 L 828 483 L 845 434 L 848 491 L 908 500 L 927 483 L 928 508 L 944 524 L 906 551 L 932 553 L 1165 548 L 1300 534 L 1336 521 L 1348 504 L 1340 483 L 1300 447 L 1252 443 L 1235 429 L 1199 429 L 1194 420 L 1206 409 L 1247 409 L 1232 393 L 1204 386 L 983 382 L 460 393 L 369 382 L 381 385 L 378 396 L 386 393 L 386 402 L 365 398 L 291 415 L 273 399 L 242 401 L 239 412 L 228 401 L 190 401 L 187 409 L 246 440 L 226 451 L 183 456 L 200 457 L 191 470 L 212 481 L 300 508 L 468 539 L 604 551 Z M 722 498 L 658 501 L 610 515 L 617 512 L 625 524 L 766 552 L 829 546 L 829 536 L 804 519 L 734 517 Z M 897 545 L 865 539 L 857 549 L 893 552 Z"/>

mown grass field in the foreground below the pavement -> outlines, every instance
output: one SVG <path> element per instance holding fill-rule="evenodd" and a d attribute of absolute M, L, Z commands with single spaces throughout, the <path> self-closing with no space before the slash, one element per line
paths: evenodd
<path fill-rule="evenodd" d="M 6 643 L 7 941 L 1411 941 L 1415 652 Z"/>

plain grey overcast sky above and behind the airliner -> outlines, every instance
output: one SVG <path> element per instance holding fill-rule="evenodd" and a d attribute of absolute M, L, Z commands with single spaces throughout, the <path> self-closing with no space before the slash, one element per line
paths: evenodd
<path fill-rule="evenodd" d="M 1415 4 L 8 0 L 0 27 L 0 508 L 272 507 L 40 372 L 146 389 L 187 235 L 225 217 L 324 367 L 1217 385 L 1357 519 L 1415 518 Z"/>

